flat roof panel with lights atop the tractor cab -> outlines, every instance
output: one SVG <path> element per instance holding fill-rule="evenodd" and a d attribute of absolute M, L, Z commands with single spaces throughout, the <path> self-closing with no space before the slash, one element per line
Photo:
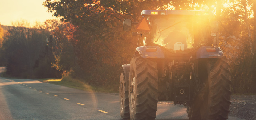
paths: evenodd
<path fill-rule="evenodd" d="M 213 16 L 212 11 L 199 11 L 199 10 L 143 10 L 142 16 L 147 15 L 206 15 Z"/>

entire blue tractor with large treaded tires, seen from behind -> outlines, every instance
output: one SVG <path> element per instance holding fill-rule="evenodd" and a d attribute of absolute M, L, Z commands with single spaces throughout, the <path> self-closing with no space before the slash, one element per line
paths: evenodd
<path fill-rule="evenodd" d="M 230 65 L 214 42 L 219 24 L 212 11 L 143 10 L 136 25 L 141 43 L 131 63 L 121 66 L 122 119 L 154 120 L 158 101 L 187 107 L 190 120 L 228 119 Z"/>

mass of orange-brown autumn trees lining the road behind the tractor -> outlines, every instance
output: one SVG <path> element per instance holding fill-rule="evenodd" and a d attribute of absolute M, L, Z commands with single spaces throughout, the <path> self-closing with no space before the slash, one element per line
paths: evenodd
<path fill-rule="evenodd" d="M 42 41 L 48 39 L 43 44 L 48 44 L 52 55 L 50 67 L 114 90 L 118 89 L 120 66 L 130 64 L 138 40 L 123 31 L 123 19 L 138 22 L 141 11 L 151 9 L 213 11 L 220 23 L 214 44 L 229 58 L 232 92 L 256 93 L 256 5 L 251 0 L 46 0 L 43 5 L 61 20 L 47 20 L 31 29 L 45 36 Z M 12 31 L 4 35 L 3 43 Z M 0 42 L 1 35 L 0 29 Z"/>

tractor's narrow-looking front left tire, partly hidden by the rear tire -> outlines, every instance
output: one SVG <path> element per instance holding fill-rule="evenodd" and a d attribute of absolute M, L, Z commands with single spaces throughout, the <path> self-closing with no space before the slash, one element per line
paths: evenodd
<path fill-rule="evenodd" d="M 119 81 L 119 101 L 122 119 L 130 119 L 128 88 L 126 88 L 124 71 L 121 71 Z"/>

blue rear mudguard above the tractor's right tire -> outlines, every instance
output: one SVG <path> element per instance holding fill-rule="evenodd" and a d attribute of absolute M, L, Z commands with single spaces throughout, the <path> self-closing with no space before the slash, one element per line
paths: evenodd
<path fill-rule="evenodd" d="M 213 48 L 211 46 L 202 46 L 196 52 L 196 58 L 222 58 L 223 51 L 219 47 L 214 47 L 216 49 L 215 52 L 208 52 L 206 48 Z"/>

